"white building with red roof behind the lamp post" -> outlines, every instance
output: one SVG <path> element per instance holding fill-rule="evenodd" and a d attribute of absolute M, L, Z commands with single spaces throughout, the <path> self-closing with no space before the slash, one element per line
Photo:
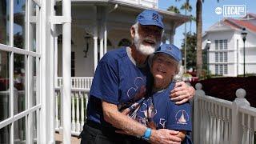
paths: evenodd
<path fill-rule="evenodd" d="M 202 37 L 202 49 L 210 40 L 209 70 L 211 74 L 237 76 L 243 74 L 242 28 L 246 28 L 245 74 L 256 73 L 256 14 L 240 19 L 225 18 L 206 30 Z"/>

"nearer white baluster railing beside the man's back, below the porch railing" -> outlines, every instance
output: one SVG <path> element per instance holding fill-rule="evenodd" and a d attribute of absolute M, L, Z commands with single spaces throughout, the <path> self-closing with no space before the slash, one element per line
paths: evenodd
<path fill-rule="evenodd" d="M 55 89 L 55 130 L 62 133 L 62 88 Z M 82 131 L 86 119 L 86 106 L 89 90 L 81 88 L 71 89 L 71 134 L 78 136 Z"/>

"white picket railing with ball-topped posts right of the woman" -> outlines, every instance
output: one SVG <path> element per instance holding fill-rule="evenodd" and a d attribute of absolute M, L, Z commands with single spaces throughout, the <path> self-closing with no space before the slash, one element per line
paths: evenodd
<path fill-rule="evenodd" d="M 205 94 L 196 85 L 194 97 L 194 143 L 255 143 L 256 108 L 246 101 L 246 91 L 238 89 L 234 102 Z"/>

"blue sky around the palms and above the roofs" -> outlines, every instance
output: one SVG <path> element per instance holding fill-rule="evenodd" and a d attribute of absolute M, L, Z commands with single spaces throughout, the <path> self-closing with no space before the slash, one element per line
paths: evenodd
<path fill-rule="evenodd" d="M 158 0 L 159 9 L 166 10 L 169 6 L 177 6 L 180 8 L 182 4 L 186 2 L 186 0 L 180 0 L 176 2 L 175 0 Z M 191 14 L 195 17 L 196 10 L 196 0 L 190 0 L 190 5 L 193 10 Z M 210 26 L 212 26 L 215 22 L 220 21 L 223 16 L 215 14 L 216 7 L 222 7 L 223 5 L 245 5 L 246 13 L 254 13 L 256 14 L 256 1 L 255 0 L 205 0 L 202 3 L 202 33 L 207 30 Z M 184 10 L 180 10 L 182 14 L 185 14 Z M 186 24 L 187 31 L 190 30 L 190 22 Z M 192 32 L 196 31 L 195 22 L 192 24 Z M 176 34 L 174 36 L 174 45 L 181 46 L 182 39 L 184 38 L 184 24 L 179 26 L 176 30 Z"/>

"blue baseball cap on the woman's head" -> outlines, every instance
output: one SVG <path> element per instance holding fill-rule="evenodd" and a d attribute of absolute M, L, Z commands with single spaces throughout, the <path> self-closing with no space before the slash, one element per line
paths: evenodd
<path fill-rule="evenodd" d="M 182 60 L 182 52 L 173 44 L 162 44 L 154 54 L 165 53 L 174 58 L 177 62 Z"/>

